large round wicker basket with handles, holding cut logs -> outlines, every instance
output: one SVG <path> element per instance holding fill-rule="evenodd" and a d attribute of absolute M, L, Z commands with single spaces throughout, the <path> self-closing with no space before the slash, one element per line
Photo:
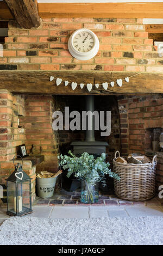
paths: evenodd
<path fill-rule="evenodd" d="M 116 151 L 113 170 L 121 180 L 114 179 L 115 194 L 118 198 L 130 201 L 145 201 L 155 196 L 156 156 L 151 163 L 116 162 L 120 152 Z"/>

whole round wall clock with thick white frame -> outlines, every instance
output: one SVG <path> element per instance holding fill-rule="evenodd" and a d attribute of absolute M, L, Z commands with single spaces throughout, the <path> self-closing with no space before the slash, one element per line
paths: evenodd
<path fill-rule="evenodd" d="M 68 40 L 68 50 L 74 58 L 79 60 L 93 58 L 99 50 L 97 35 L 90 29 L 78 29 Z"/>

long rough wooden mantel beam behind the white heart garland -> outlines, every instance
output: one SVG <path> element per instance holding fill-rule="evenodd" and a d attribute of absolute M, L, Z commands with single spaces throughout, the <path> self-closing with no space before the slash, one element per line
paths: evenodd
<path fill-rule="evenodd" d="M 77 83 L 102 83 L 116 81 L 118 78 L 133 76 L 134 73 L 126 72 L 39 72 L 39 71 L 0 71 L 0 89 L 7 89 L 12 93 L 32 94 L 54 94 L 54 95 L 143 95 L 163 94 L 163 74 L 140 73 L 131 77 L 129 83 L 123 81 L 122 87 L 110 85 L 108 90 L 102 86 L 97 89 L 93 86 L 88 92 L 86 86 L 80 89 L 79 86 L 72 90 L 71 84 L 65 87 L 64 82 L 57 86 L 55 80 L 49 81 L 50 76 L 62 78 L 62 81 Z M 49 76 L 49 77 L 48 77 Z"/>

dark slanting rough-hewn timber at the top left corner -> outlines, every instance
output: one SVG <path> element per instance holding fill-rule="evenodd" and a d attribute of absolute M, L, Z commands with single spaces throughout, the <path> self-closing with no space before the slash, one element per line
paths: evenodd
<path fill-rule="evenodd" d="M 40 17 L 37 3 L 33 0 L 5 0 L 12 16 L 21 28 L 37 28 L 40 26 Z"/>

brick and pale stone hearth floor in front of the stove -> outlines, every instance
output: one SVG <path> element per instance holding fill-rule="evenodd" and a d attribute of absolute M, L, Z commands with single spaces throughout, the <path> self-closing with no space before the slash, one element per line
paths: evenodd
<path fill-rule="evenodd" d="M 93 218 L 93 217 L 139 217 L 162 216 L 162 200 L 154 197 L 146 202 L 129 202 L 118 199 L 114 194 L 103 193 L 96 204 L 80 203 L 79 192 L 55 193 L 49 199 L 36 197 L 33 214 L 40 218 Z M 9 218 L 6 204 L 0 204 L 0 224 Z M 29 215 L 26 215 L 29 216 Z"/>

